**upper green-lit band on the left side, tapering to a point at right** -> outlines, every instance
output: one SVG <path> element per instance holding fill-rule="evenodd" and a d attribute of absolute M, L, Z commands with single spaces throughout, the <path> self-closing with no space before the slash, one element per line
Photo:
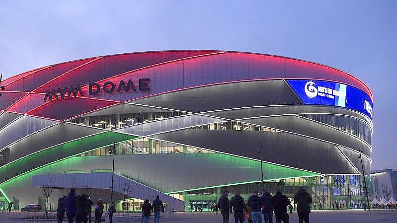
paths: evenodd
<path fill-rule="evenodd" d="M 136 137 L 120 133 L 105 132 L 32 153 L 22 159 L 17 159 L 1 166 L 0 183 L 52 162 L 92 149 L 112 145 L 117 142 L 132 140 L 134 138 Z M 10 148 L 10 151 L 11 150 Z"/>

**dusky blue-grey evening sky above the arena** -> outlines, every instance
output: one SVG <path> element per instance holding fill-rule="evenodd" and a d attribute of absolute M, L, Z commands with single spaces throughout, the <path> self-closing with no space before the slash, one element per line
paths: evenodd
<path fill-rule="evenodd" d="M 213 49 L 338 68 L 374 94 L 372 169 L 397 168 L 397 1 L 1 0 L 4 77 L 127 52 Z"/>

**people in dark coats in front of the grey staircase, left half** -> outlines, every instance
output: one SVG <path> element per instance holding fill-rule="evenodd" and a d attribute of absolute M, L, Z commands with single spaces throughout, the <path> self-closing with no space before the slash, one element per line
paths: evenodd
<path fill-rule="evenodd" d="M 76 189 L 72 188 L 68 196 L 61 197 L 58 200 L 58 223 L 64 221 L 65 214 L 69 223 L 90 223 L 92 206 L 94 206 L 94 203 L 88 195 L 76 195 Z M 149 199 L 146 199 L 141 205 L 141 223 L 149 223 L 151 213 L 154 213 L 154 222 L 159 223 L 160 212 L 164 213 L 165 206 L 159 199 L 159 196 L 156 197 L 156 200 L 152 204 L 149 202 Z M 99 198 L 94 206 L 95 223 L 101 222 L 103 210 L 103 201 L 102 198 Z M 105 212 L 109 216 L 109 223 L 113 222 L 114 213 L 116 213 L 116 207 L 114 202 L 112 202 L 108 205 L 108 210 Z"/>

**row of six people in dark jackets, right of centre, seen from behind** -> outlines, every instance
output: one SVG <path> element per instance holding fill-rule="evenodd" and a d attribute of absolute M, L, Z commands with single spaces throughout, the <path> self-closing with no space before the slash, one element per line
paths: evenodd
<path fill-rule="evenodd" d="M 233 214 L 235 223 L 243 223 L 245 219 L 248 223 L 262 223 L 262 215 L 265 223 L 273 223 L 273 213 L 276 223 L 289 223 L 289 215 L 287 209 L 292 212 L 292 205 L 290 200 L 283 195 L 282 191 L 277 191 L 276 195 L 272 196 L 266 190 L 262 191 L 259 196 L 254 192 L 245 202 L 236 193 L 232 199 L 229 200 L 229 192 L 225 191 L 216 204 L 216 213 L 220 210 L 223 217 L 223 223 L 229 223 L 229 215 Z M 312 203 L 312 196 L 303 188 L 300 187 L 294 197 L 294 203 L 297 204 L 297 211 L 299 223 L 309 223 L 310 204 Z"/>

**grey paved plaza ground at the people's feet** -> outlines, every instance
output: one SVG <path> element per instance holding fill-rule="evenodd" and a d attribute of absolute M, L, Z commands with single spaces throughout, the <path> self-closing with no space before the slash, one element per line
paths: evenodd
<path fill-rule="evenodd" d="M 290 215 L 290 223 L 298 223 L 298 214 Z M 0 220 L 0 223 L 55 223 L 56 221 L 32 220 Z M 140 222 L 140 221 L 134 221 Z M 273 219 L 273 223 L 274 223 Z M 340 210 L 340 211 L 313 211 L 310 215 L 311 223 L 397 223 L 397 211 L 371 211 L 363 210 Z M 153 223 L 153 219 L 150 220 Z M 175 213 L 160 219 L 160 223 L 222 223 L 222 217 L 214 213 Z M 230 217 L 230 223 L 234 219 Z"/>

